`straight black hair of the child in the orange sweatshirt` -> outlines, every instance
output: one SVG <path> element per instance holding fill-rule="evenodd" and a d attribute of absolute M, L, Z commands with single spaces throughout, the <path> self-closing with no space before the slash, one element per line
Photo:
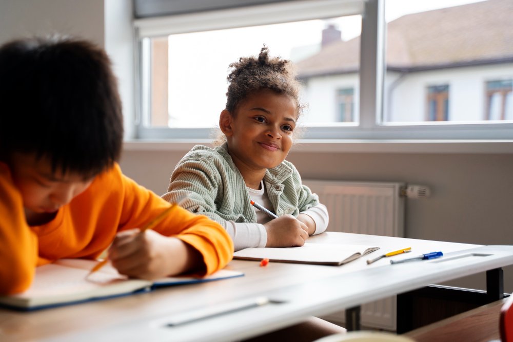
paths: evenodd
<path fill-rule="evenodd" d="M 52 170 L 94 176 L 119 160 L 123 118 L 110 59 L 63 36 L 0 47 L 0 160 L 48 158 Z"/>

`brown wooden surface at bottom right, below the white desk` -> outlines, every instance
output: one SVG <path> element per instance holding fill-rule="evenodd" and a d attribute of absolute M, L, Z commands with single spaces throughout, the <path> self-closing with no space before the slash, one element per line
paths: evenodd
<path fill-rule="evenodd" d="M 500 340 L 499 315 L 506 299 L 461 313 L 406 334 L 417 342 L 489 342 Z"/>

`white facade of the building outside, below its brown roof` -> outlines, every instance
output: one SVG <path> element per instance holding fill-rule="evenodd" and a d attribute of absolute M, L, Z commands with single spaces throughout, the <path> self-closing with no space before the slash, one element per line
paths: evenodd
<path fill-rule="evenodd" d="M 427 119 L 429 86 L 449 86 L 449 121 L 476 122 L 486 119 L 486 82 L 513 79 L 513 63 L 461 67 L 406 73 L 388 72 L 383 95 L 386 122 L 424 122 Z M 354 113 L 358 117 L 357 73 L 311 77 L 305 82 L 302 100 L 308 104 L 303 121 L 327 123 L 337 120 L 337 90 L 354 89 Z M 510 96 L 511 98 L 511 96 Z M 512 110 L 509 105 L 509 110 Z"/>

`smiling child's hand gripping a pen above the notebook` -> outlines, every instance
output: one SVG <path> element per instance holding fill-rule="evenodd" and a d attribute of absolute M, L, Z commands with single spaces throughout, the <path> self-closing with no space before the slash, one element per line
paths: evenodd
<path fill-rule="evenodd" d="M 283 215 L 264 225 L 267 231 L 265 247 L 303 246 L 308 238 L 308 227 L 292 215 Z"/>

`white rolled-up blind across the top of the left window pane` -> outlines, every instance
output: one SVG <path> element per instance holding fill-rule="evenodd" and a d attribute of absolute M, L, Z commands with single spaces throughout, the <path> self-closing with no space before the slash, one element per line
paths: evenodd
<path fill-rule="evenodd" d="M 134 20 L 139 37 L 270 25 L 362 14 L 364 0 L 134 0 L 178 4 L 175 12 Z M 192 4 L 197 3 L 196 6 Z M 204 4 L 203 7 L 199 4 Z M 231 7 L 227 7 L 231 3 Z M 236 4 L 234 4 L 236 3 Z M 223 7 L 224 6 L 224 7 Z M 194 9 L 195 8 L 195 9 Z M 180 14 L 181 13 L 181 14 Z"/>

